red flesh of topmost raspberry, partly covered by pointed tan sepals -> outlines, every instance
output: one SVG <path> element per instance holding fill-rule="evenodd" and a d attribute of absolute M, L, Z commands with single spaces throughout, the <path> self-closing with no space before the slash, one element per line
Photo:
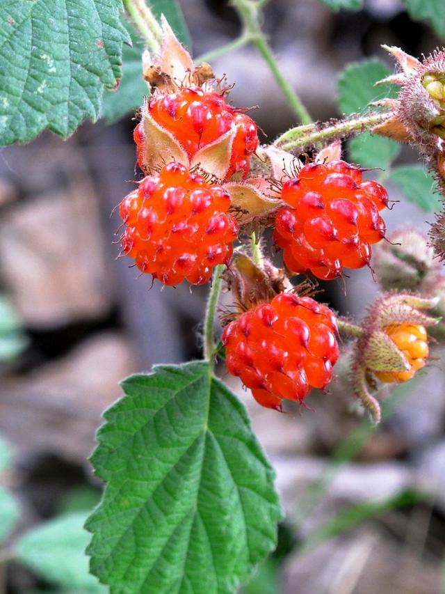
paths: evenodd
<path fill-rule="evenodd" d="M 180 88 L 176 93 L 159 93 L 150 97 L 148 110 L 159 125 L 175 136 L 190 158 L 200 148 L 235 128 L 226 179 L 237 171 L 243 171 L 243 178 L 248 175 L 249 157 L 258 146 L 257 125 L 252 118 L 227 104 L 224 93 L 206 92 L 199 86 Z M 138 146 L 138 163 L 142 165 L 142 123 L 136 126 L 134 141 Z"/>

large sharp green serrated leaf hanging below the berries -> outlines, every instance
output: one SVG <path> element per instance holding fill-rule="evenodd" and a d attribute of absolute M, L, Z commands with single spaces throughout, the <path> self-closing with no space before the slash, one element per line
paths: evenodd
<path fill-rule="evenodd" d="M 243 405 L 204 361 L 122 386 L 92 456 L 107 483 L 86 525 L 92 572 L 113 593 L 232 594 L 282 517 Z"/>

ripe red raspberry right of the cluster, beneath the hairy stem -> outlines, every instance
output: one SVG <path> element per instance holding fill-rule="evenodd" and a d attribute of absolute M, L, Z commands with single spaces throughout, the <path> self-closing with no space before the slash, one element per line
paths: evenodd
<path fill-rule="evenodd" d="M 282 199 L 289 207 L 277 212 L 274 241 L 293 272 L 334 279 L 343 267 L 369 264 L 370 245 L 385 236 L 385 188 L 344 161 L 304 166 L 284 184 Z"/>

